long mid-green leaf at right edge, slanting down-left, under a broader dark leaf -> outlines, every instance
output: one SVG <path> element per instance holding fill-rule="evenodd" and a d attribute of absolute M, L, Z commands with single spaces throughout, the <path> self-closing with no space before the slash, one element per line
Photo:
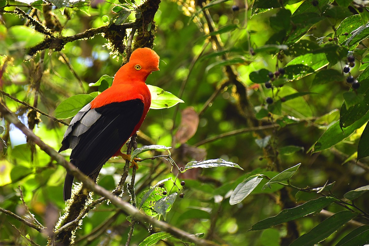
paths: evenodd
<path fill-rule="evenodd" d="M 328 148 L 338 144 L 345 138 L 348 138 L 356 129 L 362 127 L 363 124 L 368 122 L 368 120 L 369 113 L 346 128 L 341 129 L 341 127 L 339 127 L 339 122 L 334 123 L 330 128 L 327 129 L 327 131 L 323 133 L 323 135 L 318 139 L 317 143 L 313 145 L 313 153 L 327 150 Z"/>

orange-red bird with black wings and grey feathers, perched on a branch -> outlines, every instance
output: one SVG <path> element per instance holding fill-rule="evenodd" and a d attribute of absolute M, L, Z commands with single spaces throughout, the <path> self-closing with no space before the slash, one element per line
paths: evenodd
<path fill-rule="evenodd" d="M 69 124 L 59 152 L 72 149 L 70 162 L 87 176 L 100 172 L 113 156 L 130 158 L 120 150 L 136 133 L 151 105 L 145 84 L 159 70 L 159 56 L 149 48 L 132 52 L 130 61 L 115 74 L 113 85 L 83 107 Z M 74 176 L 67 173 L 64 200 L 72 193 Z"/>

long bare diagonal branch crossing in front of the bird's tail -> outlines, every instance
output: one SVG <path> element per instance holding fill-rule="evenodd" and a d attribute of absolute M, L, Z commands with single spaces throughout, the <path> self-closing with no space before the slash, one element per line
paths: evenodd
<path fill-rule="evenodd" d="M 169 232 L 176 238 L 185 240 L 186 242 L 192 242 L 197 246 L 215 246 L 217 245 L 214 242 L 210 242 L 204 239 L 197 238 L 194 235 L 191 235 L 188 232 L 183 231 L 182 229 L 176 228 L 175 226 L 169 225 L 162 221 L 157 221 L 155 218 L 151 218 L 146 214 L 142 214 L 137 208 L 133 207 L 130 203 L 127 203 L 114 194 L 110 193 L 110 191 L 104 189 L 103 187 L 97 185 L 90 178 L 88 178 L 85 174 L 83 174 L 79 169 L 77 169 L 73 164 L 67 162 L 65 158 L 56 152 L 54 148 L 45 144 L 44 141 L 41 140 L 38 136 L 36 136 L 30 129 L 28 129 L 20 120 L 17 118 L 14 113 L 12 113 L 3 103 L 0 103 L 0 113 L 3 117 L 10 123 L 13 123 L 15 127 L 20 129 L 30 141 L 33 141 L 37 144 L 42 151 L 45 151 L 50 157 L 55 159 L 55 161 L 67 169 L 68 173 L 75 176 L 76 179 L 79 179 L 83 182 L 83 186 L 87 189 L 92 190 L 94 193 L 99 194 L 100 196 L 105 196 L 107 199 L 111 201 L 116 207 L 120 208 L 125 214 L 132 215 L 132 217 L 138 219 L 139 221 L 147 222 L 156 226 L 162 231 Z"/>

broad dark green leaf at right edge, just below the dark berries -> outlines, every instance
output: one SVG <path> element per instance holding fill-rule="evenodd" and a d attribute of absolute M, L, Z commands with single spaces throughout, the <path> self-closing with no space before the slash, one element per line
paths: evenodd
<path fill-rule="evenodd" d="M 358 94 L 365 95 L 364 100 L 346 109 L 344 103 L 341 107 L 341 119 L 339 119 L 339 126 L 348 127 L 354 124 L 357 120 L 361 119 L 369 110 L 369 67 L 367 67 L 357 78 L 360 82 L 360 87 L 356 91 Z"/>

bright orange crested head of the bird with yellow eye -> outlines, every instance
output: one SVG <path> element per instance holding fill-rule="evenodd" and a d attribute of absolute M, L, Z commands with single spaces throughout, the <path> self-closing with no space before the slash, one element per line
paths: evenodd
<path fill-rule="evenodd" d="M 138 48 L 132 52 L 130 67 L 133 72 L 141 74 L 151 74 L 151 72 L 159 70 L 159 56 L 156 52 L 149 48 Z"/>

